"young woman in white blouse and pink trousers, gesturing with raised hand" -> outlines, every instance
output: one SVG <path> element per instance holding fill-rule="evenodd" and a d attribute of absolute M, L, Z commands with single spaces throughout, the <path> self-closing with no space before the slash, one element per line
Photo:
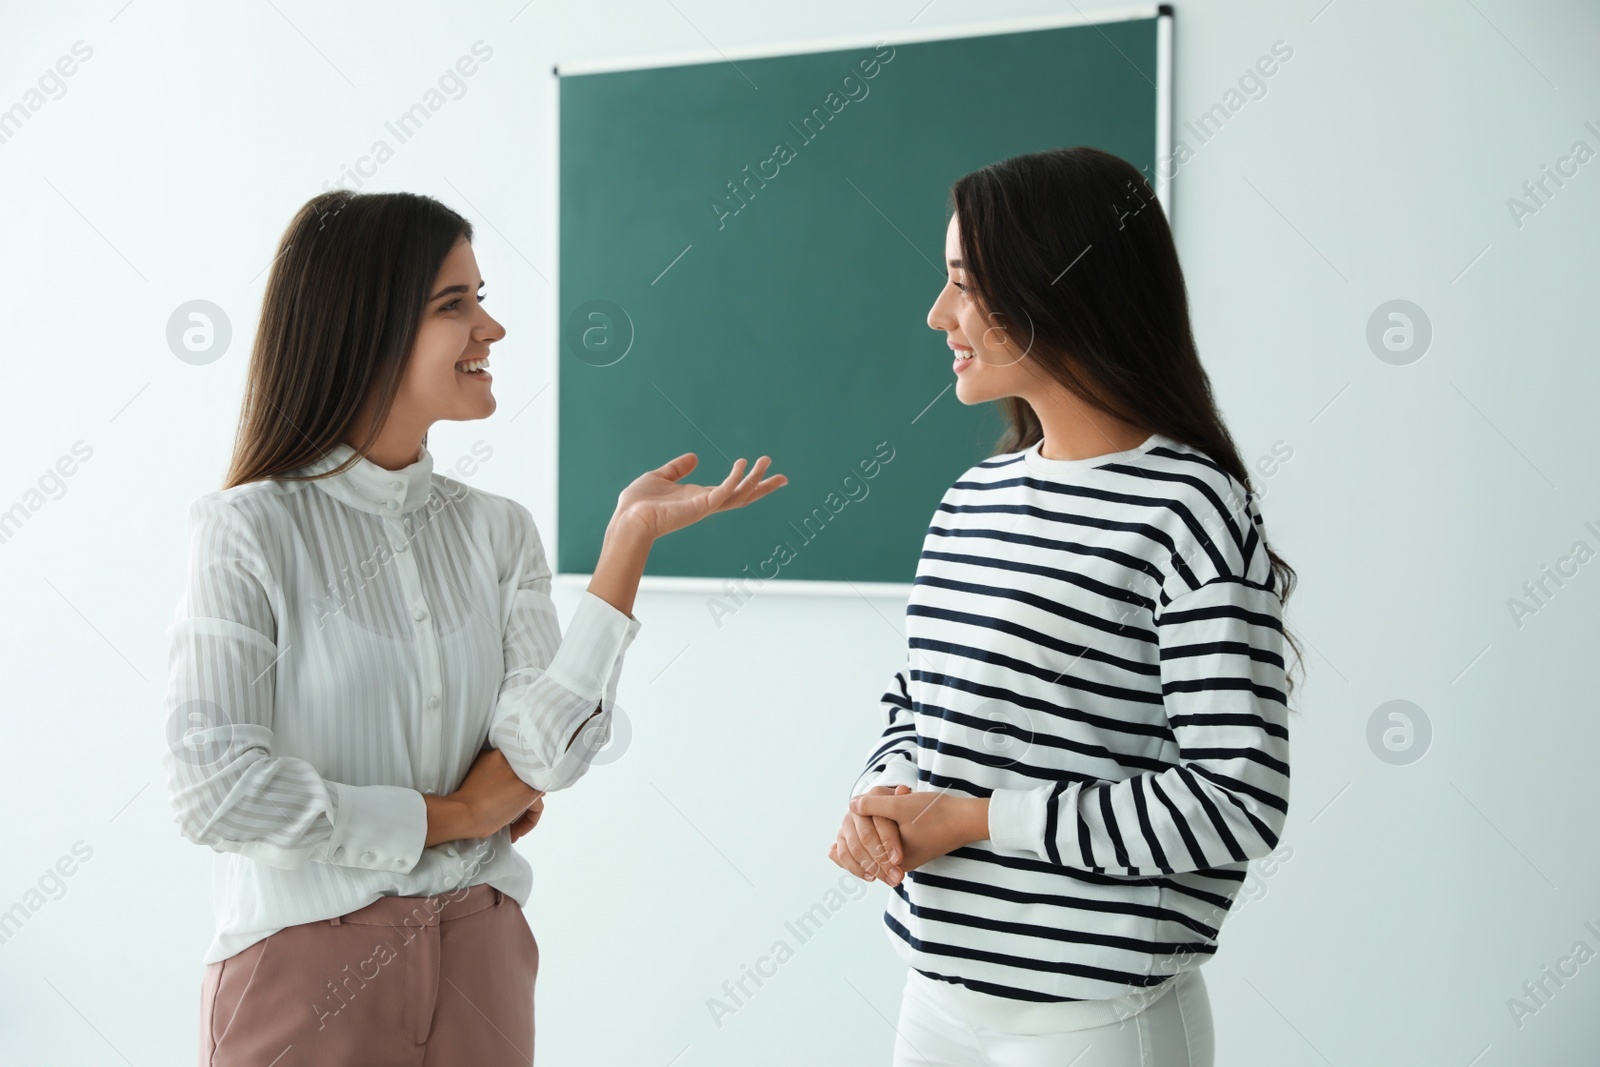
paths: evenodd
<path fill-rule="evenodd" d="M 786 482 L 635 478 L 563 637 L 528 509 L 427 451 L 494 413 L 482 288 L 472 227 L 411 194 L 314 197 L 274 259 L 170 630 L 170 798 L 216 853 L 202 1064 L 531 1062 L 510 843 L 610 739 L 654 539 Z"/>

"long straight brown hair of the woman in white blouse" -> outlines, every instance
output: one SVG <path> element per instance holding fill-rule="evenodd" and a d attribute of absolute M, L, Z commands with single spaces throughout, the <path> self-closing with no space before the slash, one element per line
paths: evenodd
<path fill-rule="evenodd" d="M 419 194 L 334 189 L 301 206 L 267 277 L 222 488 L 318 459 L 371 398 L 366 440 L 339 470 L 366 454 L 438 270 L 462 237 L 472 240 L 472 224 Z"/>

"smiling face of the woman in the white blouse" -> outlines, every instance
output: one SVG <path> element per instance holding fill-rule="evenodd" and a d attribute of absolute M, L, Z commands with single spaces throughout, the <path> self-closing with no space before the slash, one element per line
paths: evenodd
<path fill-rule="evenodd" d="M 426 432 L 440 419 L 482 419 L 494 413 L 488 355 L 490 344 L 504 338 L 506 328 L 483 310 L 482 288 L 472 242 L 462 237 L 445 256 L 422 306 L 390 421 L 416 422 Z"/>

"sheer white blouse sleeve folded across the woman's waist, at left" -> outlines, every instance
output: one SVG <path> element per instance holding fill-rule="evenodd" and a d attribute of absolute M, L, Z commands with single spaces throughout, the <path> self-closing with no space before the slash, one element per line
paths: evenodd
<path fill-rule="evenodd" d="M 422 793 L 346 785 L 272 752 L 275 582 L 245 518 L 200 498 L 189 509 L 189 579 L 168 630 L 168 747 L 162 765 L 182 835 L 274 867 L 307 861 L 411 870 Z"/>

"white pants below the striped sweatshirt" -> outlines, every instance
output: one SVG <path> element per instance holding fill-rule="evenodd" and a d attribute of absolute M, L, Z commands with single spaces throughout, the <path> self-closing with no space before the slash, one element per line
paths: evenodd
<path fill-rule="evenodd" d="M 1213 1067 L 1211 1000 L 1200 969 L 1110 1025 L 1066 1033 L 973 1029 L 907 982 L 894 1067 Z"/>

